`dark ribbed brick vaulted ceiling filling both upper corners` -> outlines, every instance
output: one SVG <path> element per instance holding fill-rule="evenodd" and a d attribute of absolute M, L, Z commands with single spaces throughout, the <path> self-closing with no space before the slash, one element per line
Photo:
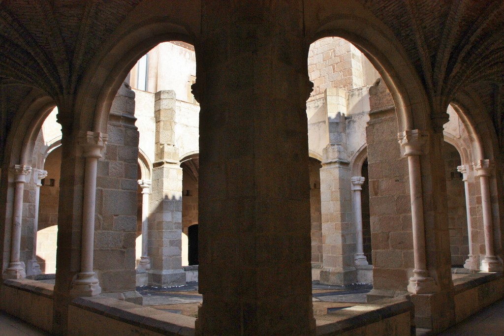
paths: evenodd
<path fill-rule="evenodd" d="M 2 145 L 29 87 L 42 89 L 58 104 L 74 94 L 93 55 L 120 24 L 131 19 L 141 2 L 0 0 Z M 476 92 L 486 106 L 485 113 L 490 114 L 502 148 L 504 1 L 359 2 L 395 34 L 432 97 L 432 107 L 446 107 L 461 89 Z M 177 3 L 180 11 L 201 9 L 197 1 Z M 233 2 L 223 0 L 216 6 L 227 3 Z M 299 1 L 286 3 L 299 6 Z M 304 7 L 316 3 L 305 0 Z"/>

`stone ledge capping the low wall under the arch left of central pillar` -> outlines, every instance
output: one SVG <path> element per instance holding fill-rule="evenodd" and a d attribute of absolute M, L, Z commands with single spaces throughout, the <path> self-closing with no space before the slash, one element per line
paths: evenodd
<path fill-rule="evenodd" d="M 134 303 L 97 296 L 77 298 L 72 306 L 167 335 L 194 335 L 196 318 L 142 307 Z"/>

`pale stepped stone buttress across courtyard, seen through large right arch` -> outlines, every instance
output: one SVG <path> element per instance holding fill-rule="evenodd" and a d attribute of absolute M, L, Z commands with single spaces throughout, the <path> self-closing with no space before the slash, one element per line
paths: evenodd
<path fill-rule="evenodd" d="M 346 92 L 328 89 L 326 103 L 329 144 L 324 148 L 320 171 L 323 243 L 320 281 L 328 285 L 347 285 L 357 282 L 357 270 L 346 144 Z"/>

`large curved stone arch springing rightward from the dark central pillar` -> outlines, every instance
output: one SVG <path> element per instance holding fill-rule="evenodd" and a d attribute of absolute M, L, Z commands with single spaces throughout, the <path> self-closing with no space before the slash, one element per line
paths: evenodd
<path fill-rule="evenodd" d="M 430 128 L 429 104 L 407 53 L 393 32 L 356 2 L 320 1 L 305 13 L 307 43 L 338 36 L 354 44 L 380 73 L 396 106 L 398 132 Z"/>

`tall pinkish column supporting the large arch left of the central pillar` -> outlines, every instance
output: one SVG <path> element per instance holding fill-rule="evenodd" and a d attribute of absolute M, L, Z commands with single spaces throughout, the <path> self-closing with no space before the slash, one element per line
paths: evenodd
<path fill-rule="evenodd" d="M 93 271 L 94 217 L 96 203 L 96 169 L 98 159 L 107 143 L 107 135 L 88 131 L 79 137 L 86 158 L 84 172 L 84 200 L 82 209 L 81 272 L 72 283 L 73 296 L 95 296 L 101 293 L 100 284 Z"/>

